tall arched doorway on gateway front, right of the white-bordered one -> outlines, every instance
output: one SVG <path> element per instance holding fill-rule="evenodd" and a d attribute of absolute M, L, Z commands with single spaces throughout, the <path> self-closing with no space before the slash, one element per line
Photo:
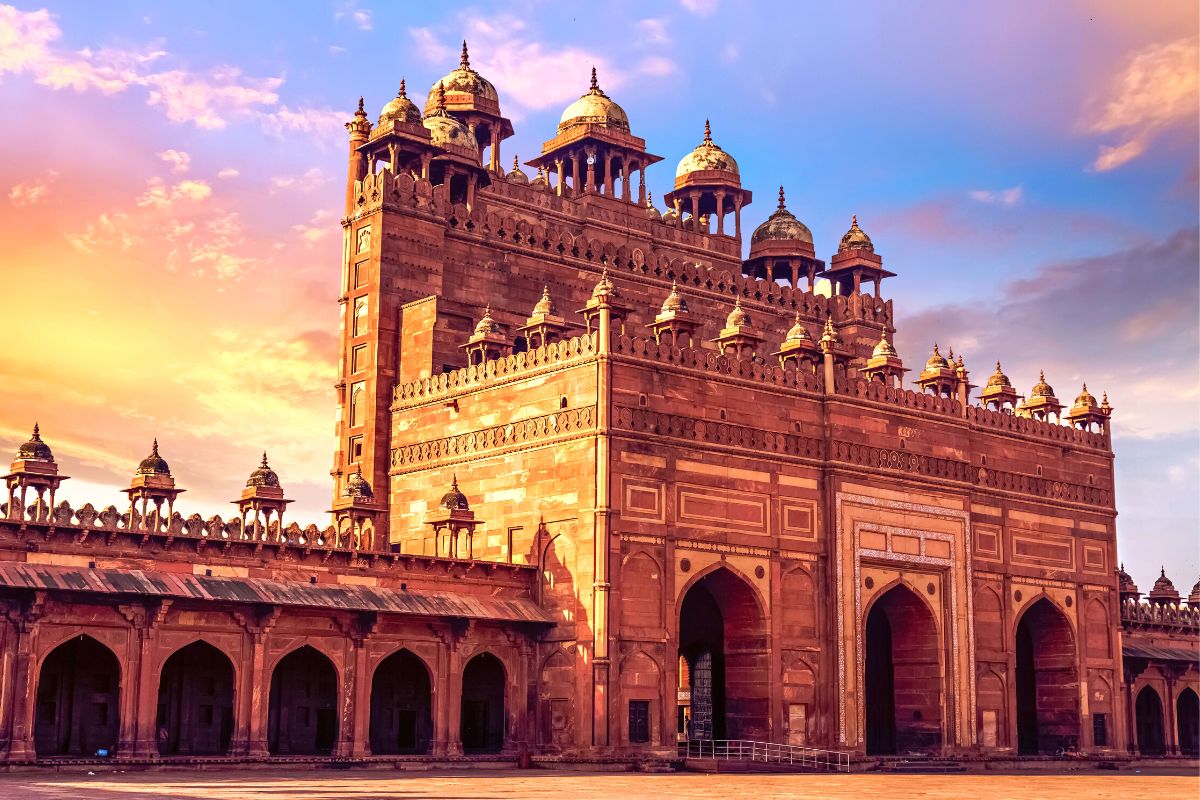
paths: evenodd
<path fill-rule="evenodd" d="M 1016 750 L 1054 754 L 1079 747 L 1079 676 L 1070 622 L 1048 599 L 1016 625 Z"/>

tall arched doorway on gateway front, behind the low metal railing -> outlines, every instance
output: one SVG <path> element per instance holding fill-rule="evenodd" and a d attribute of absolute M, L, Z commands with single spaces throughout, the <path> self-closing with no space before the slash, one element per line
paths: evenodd
<path fill-rule="evenodd" d="M 749 583 L 721 567 L 679 604 L 679 655 L 690 679 L 691 739 L 768 738 L 769 643 Z"/>

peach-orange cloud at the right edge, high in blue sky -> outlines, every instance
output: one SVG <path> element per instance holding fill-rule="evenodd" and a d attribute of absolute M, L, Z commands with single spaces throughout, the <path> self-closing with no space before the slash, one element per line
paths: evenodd
<path fill-rule="evenodd" d="M 1118 134 L 1099 148 L 1092 169 L 1116 169 L 1146 152 L 1164 128 L 1200 113 L 1200 40 L 1157 43 L 1134 53 L 1112 78 L 1106 98 L 1091 114 L 1090 133 Z"/>

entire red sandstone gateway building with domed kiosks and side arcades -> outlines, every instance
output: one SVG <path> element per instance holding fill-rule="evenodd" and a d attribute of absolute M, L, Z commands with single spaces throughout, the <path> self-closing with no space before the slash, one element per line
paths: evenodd
<path fill-rule="evenodd" d="M 594 73 L 533 178 L 466 46 L 424 109 L 360 102 L 334 524 L 265 456 L 186 516 L 157 443 L 126 507 L 72 509 L 35 431 L 2 758 L 1194 753 L 1200 591 L 1117 567 L 1108 399 L 910 369 L 858 221 L 821 260 L 780 190 L 743 259 L 696 127 L 660 213 Z"/>

